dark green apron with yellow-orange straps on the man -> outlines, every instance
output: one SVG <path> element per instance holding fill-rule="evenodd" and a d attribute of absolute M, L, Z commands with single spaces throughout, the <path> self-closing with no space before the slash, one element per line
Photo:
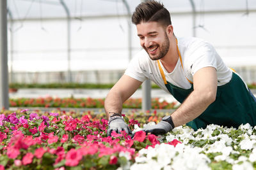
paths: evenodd
<path fill-rule="evenodd" d="M 178 46 L 177 49 L 179 52 Z M 181 89 L 180 87 L 172 85 L 172 83 L 166 81 L 159 60 L 157 62 L 166 88 L 177 101 L 183 103 L 193 91 L 193 83 L 188 80 L 191 82 L 190 89 Z M 181 57 L 180 62 L 182 65 Z M 250 90 L 247 89 L 243 80 L 241 80 L 236 73 L 232 73 L 230 82 L 218 86 L 216 100 L 210 104 L 199 117 L 188 122 L 187 125 L 196 131 L 199 128 L 205 128 L 209 124 L 237 128 L 239 125 L 246 123 L 252 126 L 256 125 L 255 97 Z"/>

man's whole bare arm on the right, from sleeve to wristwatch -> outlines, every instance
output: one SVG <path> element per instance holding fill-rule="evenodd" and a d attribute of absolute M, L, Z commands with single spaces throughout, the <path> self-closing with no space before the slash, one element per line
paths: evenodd
<path fill-rule="evenodd" d="M 204 67 L 193 76 L 194 90 L 180 107 L 172 113 L 175 127 L 184 125 L 201 115 L 216 99 L 217 72 L 214 67 Z"/>

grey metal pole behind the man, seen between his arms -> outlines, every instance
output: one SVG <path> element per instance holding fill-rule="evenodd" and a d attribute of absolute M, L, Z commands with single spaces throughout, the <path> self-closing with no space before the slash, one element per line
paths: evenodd
<path fill-rule="evenodd" d="M 147 2 L 148 0 L 143 0 Z M 142 84 L 142 111 L 151 109 L 151 81 L 145 80 Z"/>

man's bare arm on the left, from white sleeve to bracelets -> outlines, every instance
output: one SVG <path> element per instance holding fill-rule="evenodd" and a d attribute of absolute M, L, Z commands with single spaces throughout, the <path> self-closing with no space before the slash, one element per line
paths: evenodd
<path fill-rule="evenodd" d="M 123 75 L 112 87 L 106 97 L 104 108 L 109 119 L 109 112 L 122 113 L 122 105 L 140 87 L 141 81 Z"/>

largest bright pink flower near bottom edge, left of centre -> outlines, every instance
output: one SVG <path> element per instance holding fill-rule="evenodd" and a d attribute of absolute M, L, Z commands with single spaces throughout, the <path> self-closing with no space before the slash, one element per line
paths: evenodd
<path fill-rule="evenodd" d="M 79 164 L 79 161 L 82 159 L 82 154 L 79 152 L 79 150 L 75 150 L 72 148 L 68 151 L 66 155 L 66 166 L 77 166 Z"/>

